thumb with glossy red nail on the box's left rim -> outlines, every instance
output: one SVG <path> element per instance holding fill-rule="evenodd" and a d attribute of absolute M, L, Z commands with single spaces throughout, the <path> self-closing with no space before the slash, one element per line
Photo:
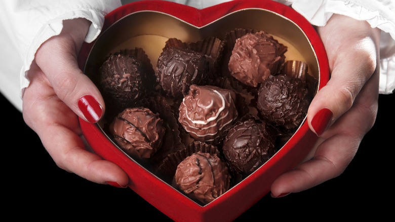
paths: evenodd
<path fill-rule="evenodd" d="M 104 113 L 104 101 L 97 87 L 77 64 L 77 54 L 88 27 L 89 22 L 85 19 L 64 21 L 62 32 L 37 50 L 35 61 L 56 95 L 75 114 L 95 123 Z"/>

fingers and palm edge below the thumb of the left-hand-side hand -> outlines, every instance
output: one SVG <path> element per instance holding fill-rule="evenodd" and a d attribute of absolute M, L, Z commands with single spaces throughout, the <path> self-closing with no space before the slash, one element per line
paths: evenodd
<path fill-rule="evenodd" d="M 85 150 L 77 116 L 57 98 L 34 62 L 31 71 L 35 71 L 35 75 L 25 89 L 23 118 L 37 133 L 55 163 L 90 181 L 126 187 L 129 179 L 119 166 Z"/>

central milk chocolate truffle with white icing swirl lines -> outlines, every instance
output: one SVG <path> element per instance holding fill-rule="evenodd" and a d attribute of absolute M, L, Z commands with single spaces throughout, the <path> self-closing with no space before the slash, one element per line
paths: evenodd
<path fill-rule="evenodd" d="M 191 85 L 179 107 L 179 122 L 196 140 L 212 141 L 238 116 L 235 93 L 215 86 Z"/>

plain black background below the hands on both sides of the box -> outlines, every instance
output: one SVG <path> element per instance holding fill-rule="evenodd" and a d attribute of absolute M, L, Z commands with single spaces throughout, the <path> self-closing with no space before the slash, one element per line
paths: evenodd
<path fill-rule="evenodd" d="M 340 176 L 282 198 L 266 195 L 236 221 L 393 218 L 394 95 L 380 95 L 376 124 Z M 56 166 L 21 113 L 4 97 L 3 218 L 171 221 L 131 189 L 96 184 Z M 11 120 L 11 121 L 8 121 Z M 148 213 L 146 213 L 147 211 Z M 145 220 L 145 219 L 144 219 Z"/>

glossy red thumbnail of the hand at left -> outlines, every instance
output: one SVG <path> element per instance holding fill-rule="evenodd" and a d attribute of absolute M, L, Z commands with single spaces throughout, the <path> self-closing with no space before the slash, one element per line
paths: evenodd
<path fill-rule="evenodd" d="M 102 108 L 101 105 L 91 95 L 85 95 L 78 100 L 78 108 L 80 108 L 84 117 L 90 123 L 96 123 L 99 121 Z"/>

